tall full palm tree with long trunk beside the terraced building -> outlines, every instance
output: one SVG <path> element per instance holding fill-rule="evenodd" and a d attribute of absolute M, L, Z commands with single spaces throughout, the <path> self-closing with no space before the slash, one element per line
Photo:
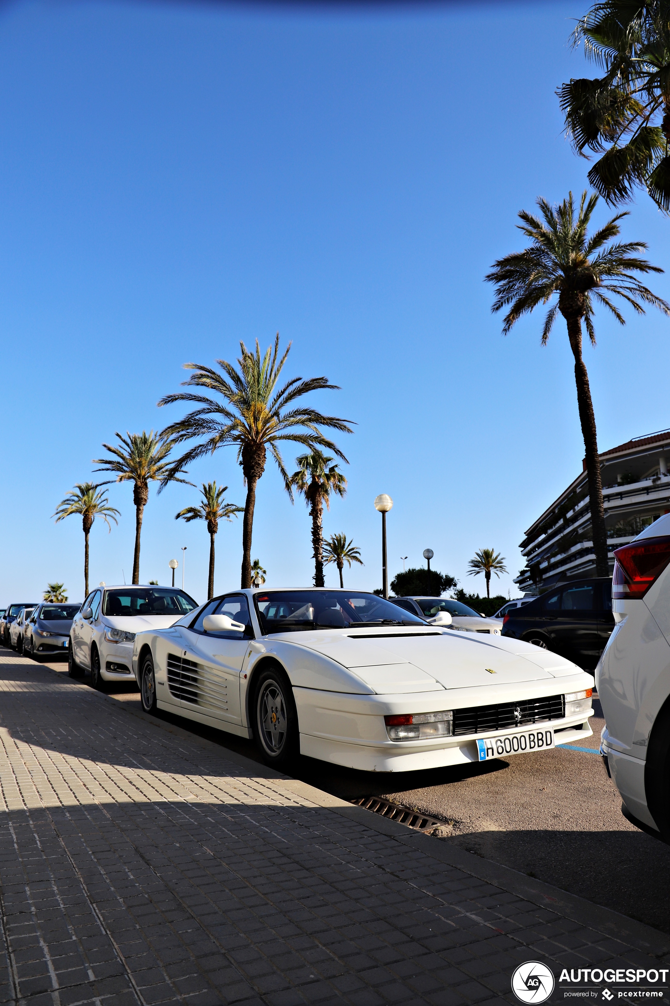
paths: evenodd
<path fill-rule="evenodd" d="M 616 294 L 630 304 L 638 314 L 645 314 L 643 304 L 652 304 L 664 314 L 670 314 L 665 301 L 652 294 L 632 273 L 662 273 L 637 253 L 647 245 L 643 241 L 612 242 L 620 232 L 619 220 L 628 213 L 619 213 L 587 237 L 587 228 L 598 196 L 584 192 L 577 219 L 573 193 L 559 206 L 550 206 L 545 199 L 538 199 L 543 222 L 525 210 L 518 214 L 519 230 L 529 237 L 531 244 L 523 252 L 515 252 L 499 259 L 486 280 L 496 286 L 493 311 L 503 307 L 509 310 L 504 318 L 502 332 L 506 335 L 518 319 L 537 307 L 548 304 L 556 295 L 544 321 L 542 345 L 546 344 L 556 312 L 566 319 L 570 348 L 575 357 L 577 401 L 582 424 L 589 480 L 589 505 L 596 555 L 596 575 L 609 575 L 607 531 L 603 509 L 603 487 L 596 417 L 591 400 L 589 374 L 582 359 L 582 321 L 596 345 L 593 324 L 594 302 L 606 307 L 618 322 L 625 324 L 619 309 L 610 296 Z M 610 242 L 610 243 L 608 243 Z"/>

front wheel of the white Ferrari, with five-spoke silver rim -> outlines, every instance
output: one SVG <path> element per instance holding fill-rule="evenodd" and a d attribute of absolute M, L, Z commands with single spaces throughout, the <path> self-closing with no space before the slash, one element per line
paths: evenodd
<path fill-rule="evenodd" d="M 293 689 L 281 668 L 260 672 L 253 705 L 253 732 L 263 761 L 275 767 L 285 765 L 299 744 Z"/>

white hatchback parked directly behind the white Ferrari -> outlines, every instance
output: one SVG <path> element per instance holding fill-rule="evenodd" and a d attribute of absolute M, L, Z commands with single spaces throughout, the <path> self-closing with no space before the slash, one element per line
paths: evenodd
<path fill-rule="evenodd" d="M 143 629 L 167 629 L 197 603 L 169 586 L 99 586 L 88 595 L 69 631 L 70 677 L 90 671 L 94 688 L 132 680 L 133 643 Z"/>

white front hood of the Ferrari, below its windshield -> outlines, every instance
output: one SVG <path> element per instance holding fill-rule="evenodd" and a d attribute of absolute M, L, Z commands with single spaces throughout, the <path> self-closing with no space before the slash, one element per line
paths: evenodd
<path fill-rule="evenodd" d="M 290 642 L 350 668 L 378 694 L 546 681 L 580 671 L 529 643 L 428 626 L 412 635 L 384 630 L 295 633 Z"/>

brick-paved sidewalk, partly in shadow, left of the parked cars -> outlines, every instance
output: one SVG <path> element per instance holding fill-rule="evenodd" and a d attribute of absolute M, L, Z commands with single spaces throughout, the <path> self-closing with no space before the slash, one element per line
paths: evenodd
<path fill-rule="evenodd" d="M 670 966 L 646 927 L 0 654 L 0 1002 L 451 1006 L 513 1001 L 528 960 Z"/>

